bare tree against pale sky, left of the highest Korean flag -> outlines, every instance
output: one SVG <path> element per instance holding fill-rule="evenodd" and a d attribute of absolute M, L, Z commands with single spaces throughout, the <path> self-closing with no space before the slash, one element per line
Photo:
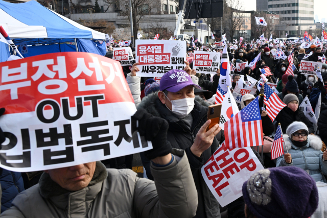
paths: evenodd
<path fill-rule="evenodd" d="M 232 40 L 243 24 L 243 5 L 240 0 L 226 0 L 225 2 L 228 6 L 224 8 L 223 26 L 226 35 Z"/>

